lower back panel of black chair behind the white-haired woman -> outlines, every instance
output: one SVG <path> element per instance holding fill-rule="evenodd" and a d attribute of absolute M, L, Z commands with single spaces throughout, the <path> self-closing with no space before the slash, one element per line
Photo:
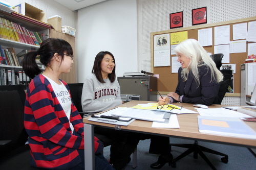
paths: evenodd
<path fill-rule="evenodd" d="M 229 83 L 231 81 L 232 77 L 232 70 L 220 70 L 221 73 L 223 74 L 223 81 L 220 82 L 220 89 L 218 92 L 218 97 L 220 99 L 220 104 L 226 94 L 226 91 L 228 89 Z"/>

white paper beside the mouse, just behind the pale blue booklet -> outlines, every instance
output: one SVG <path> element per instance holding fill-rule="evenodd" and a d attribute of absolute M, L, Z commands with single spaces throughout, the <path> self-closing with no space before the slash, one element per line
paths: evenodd
<path fill-rule="evenodd" d="M 225 109 L 225 108 L 216 108 L 216 109 L 201 109 L 196 108 L 201 116 L 215 116 L 215 117 L 252 117 L 247 114 L 239 113 L 237 111 Z"/>

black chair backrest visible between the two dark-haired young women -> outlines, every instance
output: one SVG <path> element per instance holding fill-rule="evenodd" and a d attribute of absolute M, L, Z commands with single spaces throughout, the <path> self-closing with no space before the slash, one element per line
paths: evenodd
<path fill-rule="evenodd" d="M 82 86 L 83 83 L 69 83 L 73 103 L 78 112 L 82 112 Z"/>

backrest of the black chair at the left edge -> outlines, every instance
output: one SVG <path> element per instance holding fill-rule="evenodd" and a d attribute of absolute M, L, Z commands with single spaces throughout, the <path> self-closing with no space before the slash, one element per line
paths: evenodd
<path fill-rule="evenodd" d="M 2 155 L 24 145 L 28 134 L 24 127 L 26 93 L 22 85 L 0 86 L 0 140 L 11 140 L 1 147 Z"/>

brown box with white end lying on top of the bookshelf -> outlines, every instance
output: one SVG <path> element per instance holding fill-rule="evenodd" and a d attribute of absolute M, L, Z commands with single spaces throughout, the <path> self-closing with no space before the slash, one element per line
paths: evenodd
<path fill-rule="evenodd" d="M 37 19 L 42 22 L 46 22 L 46 13 L 38 8 L 33 7 L 27 3 L 22 3 L 15 6 L 15 11 L 29 16 L 31 18 Z"/>

